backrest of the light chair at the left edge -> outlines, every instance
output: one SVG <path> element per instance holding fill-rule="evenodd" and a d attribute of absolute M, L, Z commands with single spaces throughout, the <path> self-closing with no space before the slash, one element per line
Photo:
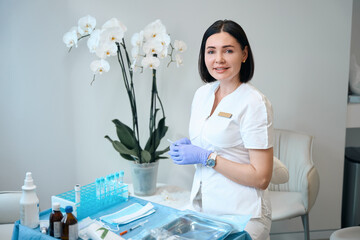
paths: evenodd
<path fill-rule="evenodd" d="M 0 191 L 0 224 L 19 220 L 21 194 L 21 191 Z"/>

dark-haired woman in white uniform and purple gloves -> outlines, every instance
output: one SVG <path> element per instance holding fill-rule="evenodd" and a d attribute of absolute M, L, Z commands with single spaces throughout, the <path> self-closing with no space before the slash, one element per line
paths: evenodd
<path fill-rule="evenodd" d="M 205 32 L 201 79 L 194 96 L 190 140 L 170 146 L 176 164 L 197 164 L 191 204 L 210 214 L 251 214 L 245 230 L 267 239 L 271 206 L 266 188 L 273 165 L 272 107 L 249 81 L 254 60 L 244 30 L 219 20 Z"/>

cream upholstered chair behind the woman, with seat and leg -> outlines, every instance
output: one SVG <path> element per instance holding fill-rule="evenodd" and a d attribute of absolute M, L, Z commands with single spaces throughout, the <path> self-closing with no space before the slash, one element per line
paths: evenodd
<path fill-rule="evenodd" d="M 305 240 L 310 240 L 309 212 L 319 192 L 319 174 L 312 160 L 313 137 L 275 129 L 274 156 L 287 167 L 289 181 L 269 185 L 272 220 L 301 216 Z"/>

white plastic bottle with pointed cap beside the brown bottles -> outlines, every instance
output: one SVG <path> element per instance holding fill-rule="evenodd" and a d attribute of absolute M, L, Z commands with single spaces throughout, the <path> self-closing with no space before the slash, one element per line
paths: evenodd
<path fill-rule="evenodd" d="M 39 226 L 39 198 L 31 172 L 26 173 L 20 198 L 20 224 L 29 228 Z"/>

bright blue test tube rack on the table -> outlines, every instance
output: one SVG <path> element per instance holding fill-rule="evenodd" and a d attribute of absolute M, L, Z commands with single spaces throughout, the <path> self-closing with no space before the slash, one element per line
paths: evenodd
<path fill-rule="evenodd" d="M 72 206 L 73 214 L 78 220 L 81 220 L 129 199 L 128 185 L 112 180 L 111 175 L 108 175 L 108 178 L 98 178 L 93 183 L 81 186 L 79 202 L 76 202 L 75 195 L 75 190 L 67 191 L 52 196 L 51 202 L 59 202 L 63 209 L 66 206 Z"/>

